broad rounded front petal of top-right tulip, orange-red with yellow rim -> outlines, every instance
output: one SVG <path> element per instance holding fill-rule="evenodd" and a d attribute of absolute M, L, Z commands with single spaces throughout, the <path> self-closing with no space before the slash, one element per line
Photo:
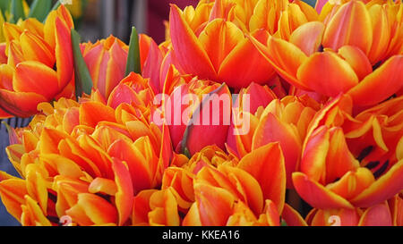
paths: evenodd
<path fill-rule="evenodd" d="M 332 52 L 311 55 L 299 67 L 296 76 L 309 88 L 329 97 L 336 97 L 358 83 L 351 66 Z"/>

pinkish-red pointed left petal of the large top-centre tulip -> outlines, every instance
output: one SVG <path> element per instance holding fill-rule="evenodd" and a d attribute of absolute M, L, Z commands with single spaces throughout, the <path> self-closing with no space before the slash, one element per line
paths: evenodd
<path fill-rule="evenodd" d="M 171 5 L 169 27 L 176 59 L 184 71 L 214 80 L 217 75 L 209 56 L 175 4 Z"/>

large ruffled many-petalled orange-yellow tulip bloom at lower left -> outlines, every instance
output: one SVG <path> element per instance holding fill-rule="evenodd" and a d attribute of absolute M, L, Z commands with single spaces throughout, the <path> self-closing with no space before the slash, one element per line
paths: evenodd
<path fill-rule="evenodd" d="M 6 151 L 23 180 L 3 173 L 0 195 L 23 225 L 55 225 L 65 215 L 76 225 L 125 225 L 135 194 L 161 184 L 172 150 L 167 126 L 97 99 L 40 104 L 42 114 L 15 131 Z"/>

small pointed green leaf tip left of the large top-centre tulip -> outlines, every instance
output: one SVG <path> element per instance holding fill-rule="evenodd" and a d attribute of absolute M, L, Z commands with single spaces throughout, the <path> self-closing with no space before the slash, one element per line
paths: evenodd
<path fill-rule="evenodd" d="M 141 73 L 139 35 L 135 27 L 132 28 L 132 35 L 130 36 L 125 74 L 129 75 L 131 72 Z"/>

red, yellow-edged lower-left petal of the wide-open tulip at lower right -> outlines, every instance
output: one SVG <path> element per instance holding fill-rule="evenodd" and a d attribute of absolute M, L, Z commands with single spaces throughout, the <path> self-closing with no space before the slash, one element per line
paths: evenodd
<path fill-rule="evenodd" d="M 318 182 L 310 180 L 302 172 L 293 173 L 293 182 L 299 196 L 310 206 L 321 209 L 354 208 L 345 198 L 341 198 Z"/>

